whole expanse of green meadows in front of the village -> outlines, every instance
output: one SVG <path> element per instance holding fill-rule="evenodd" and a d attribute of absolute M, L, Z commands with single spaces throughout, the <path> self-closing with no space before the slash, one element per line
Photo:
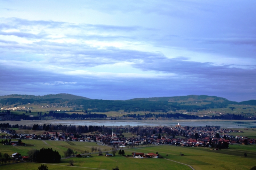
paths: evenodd
<path fill-rule="evenodd" d="M 12 154 L 19 152 L 21 155 L 26 155 L 29 149 L 41 149 L 42 147 L 51 147 L 53 150 L 58 151 L 63 155 L 63 151 L 67 148 L 71 148 L 74 151 L 80 153 L 80 151 L 89 150 L 92 146 L 99 146 L 94 142 L 65 142 L 65 141 L 44 141 L 41 140 L 25 140 L 23 141 L 30 146 L 6 146 L 0 145 L 0 150 L 3 153 Z M 108 146 L 100 146 L 101 150 L 110 150 Z M 124 149 L 125 154 L 131 154 L 132 152 L 158 152 L 166 159 L 133 159 L 131 157 L 118 156 L 105 157 L 97 156 L 92 153 L 93 158 L 70 158 L 74 160 L 74 166 L 68 166 L 70 159 L 62 159 L 59 164 L 48 165 L 49 170 L 52 169 L 77 169 L 77 168 L 99 168 L 109 169 L 118 166 L 120 170 L 130 169 L 190 169 L 188 166 L 180 164 L 188 164 L 195 170 L 249 170 L 251 167 L 256 166 L 256 145 L 229 145 L 229 149 L 221 149 L 219 151 L 213 151 L 211 148 L 204 147 L 179 147 L 172 145 L 159 145 L 148 147 L 136 147 Z M 180 154 L 184 156 L 180 156 Z M 247 153 L 247 157 L 244 157 L 244 153 Z M 170 159 L 170 160 L 168 160 Z M 173 162 L 173 161 L 177 162 Z M 18 163 L 10 164 L 4 167 L 5 169 L 37 169 L 39 164 L 37 163 Z M 87 168 L 85 168 L 87 169 Z"/>

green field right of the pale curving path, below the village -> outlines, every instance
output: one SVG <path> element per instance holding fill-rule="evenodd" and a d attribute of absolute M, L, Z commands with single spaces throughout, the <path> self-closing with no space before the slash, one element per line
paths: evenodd
<path fill-rule="evenodd" d="M 154 146 L 136 152 L 158 152 L 164 158 L 191 165 L 196 170 L 250 169 L 256 163 L 256 147 L 230 145 L 230 149 L 212 151 L 204 147 Z M 132 149 L 129 149 L 132 151 Z M 247 157 L 244 153 L 247 152 Z M 184 156 L 180 156 L 180 153 Z M 168 156 L 166 156 L 168 154 Z"/>

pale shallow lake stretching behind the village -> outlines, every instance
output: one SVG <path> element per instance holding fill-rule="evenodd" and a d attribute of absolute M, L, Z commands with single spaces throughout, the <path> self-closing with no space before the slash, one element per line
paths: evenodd
<path fill-rule="evenodd" d="M 33 125 L 33 124 L 71 124 L 92 126 L 220 126 L 224 128 L 252 128 L 256 127 L 255 120 L 22 120 L 22 121 L 0 121 L 0 123 Z"/>

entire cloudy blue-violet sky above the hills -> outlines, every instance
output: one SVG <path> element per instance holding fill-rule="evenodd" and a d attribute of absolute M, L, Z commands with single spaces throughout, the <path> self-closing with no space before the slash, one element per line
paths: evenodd
<path fill-rule="evenodd" d="M 256 99 L 255 6 L 0 0 L 0 96 Z"/>

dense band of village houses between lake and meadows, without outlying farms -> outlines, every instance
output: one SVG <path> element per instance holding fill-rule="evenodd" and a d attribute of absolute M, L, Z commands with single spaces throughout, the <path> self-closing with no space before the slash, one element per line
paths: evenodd
<path fill-rule="evenodd" d="M 160 127 L 159 127 L 160 128 Z M 173 138 L 172 135 L 148 135 L 148 136 L 136 136 L 131 138 L 122 137 L 119 133 L 99 133 L 95 135 L 80 135 L 76 137 L 75 134 L 61 133 L 61 132 L 47 132 L 42 135 L 35 134 L 15 134 L 11 135 L 10 131 L 1 130 L 1 133 L 7 133 L 8 135 L 0 136 L 0 139 L 37 139 L 37 140 L 63 140 L 63 141 L 80 141 L 80 142 L 102 142 L 107 145 L 116 145 L 120 147 L 131 147 L 136 145 L 178 145 L 178 146 L 211 146 L 214 143 L 227 142 L 228 144 L 256 144 L 255 139 L 249 139 L 244 136 L 232 136 L 229 135 L 232 132 L 240 132 L 239 130 L 231 129 L 218 129 L 212 128 L 196 128 L 177 125 L 171 129 L 175 130 L 178 134 L 186 134 L 184 136 L 190 139 Z M 162 133 L 165 133 L 162 131 Z M 217 136 L 217 134 L 220 134 Z M 13 145 L 17 145 L 13 142 Z"/>

